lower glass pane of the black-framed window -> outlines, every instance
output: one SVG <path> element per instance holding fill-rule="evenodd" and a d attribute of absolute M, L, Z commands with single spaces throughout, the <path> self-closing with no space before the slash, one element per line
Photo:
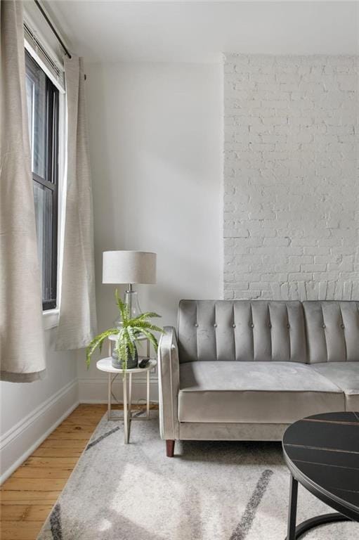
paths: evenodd
<path fill-rule="evenodd" d="M 34 182 L 35 215 L 37 226 L 37 246 L 42 271 L 43 300 L 53 298 L 53 191 Z"/>

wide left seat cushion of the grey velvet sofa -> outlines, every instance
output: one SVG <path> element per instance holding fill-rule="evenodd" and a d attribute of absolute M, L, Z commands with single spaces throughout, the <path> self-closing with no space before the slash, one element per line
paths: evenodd
<path fill-rule="evenodd" d="M 181 422 L 292 423 L 344 410 L 340 388 L 306 364 L 197 361 L 180 366 Z"/>

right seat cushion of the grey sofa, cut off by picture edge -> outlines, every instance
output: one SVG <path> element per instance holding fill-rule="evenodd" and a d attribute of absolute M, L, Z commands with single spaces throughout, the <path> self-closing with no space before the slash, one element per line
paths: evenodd
<path fill-rule="evenodd" d="M 343 390 L 346 411 L 359 411 L 359 362 L 324 362 L 313 369 Z"/>

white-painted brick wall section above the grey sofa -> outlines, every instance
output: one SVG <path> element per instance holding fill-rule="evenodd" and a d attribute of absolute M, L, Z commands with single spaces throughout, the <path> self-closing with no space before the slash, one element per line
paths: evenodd
<path fill-rule="evenodd" d="M 224 297 L 359 300 L 358 58 L 224 60 Z"/>

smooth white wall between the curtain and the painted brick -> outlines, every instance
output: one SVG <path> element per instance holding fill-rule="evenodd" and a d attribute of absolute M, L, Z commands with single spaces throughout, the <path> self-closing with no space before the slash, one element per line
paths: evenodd
<path fill-rule="evenodd" d="M 221 65 L 92 64 L 86 75 L 99 330 L 116 315 L 114 287 L 101 284 L 114 249 L 157 252 L 141 308 L 176 325 L 181 298 L 221 297 Z M 79 392 L 106 397 L 82 353 Z"/>

